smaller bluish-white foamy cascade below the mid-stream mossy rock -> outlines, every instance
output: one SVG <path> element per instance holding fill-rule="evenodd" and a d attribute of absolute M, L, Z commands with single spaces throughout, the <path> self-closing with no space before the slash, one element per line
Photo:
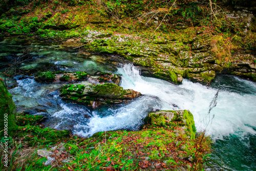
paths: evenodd
<path fill-rule="evenodd" d="M 74 134 L 87 137 L 101 131 L 138 130 L 148 111 L 160 109 L 156 101 L 155 97 L 144 96 L 117 109 L 109 109 L 102 113 L 93 111 L 93 116 L 86 125 L 79 122 L 74 126 Z"/>

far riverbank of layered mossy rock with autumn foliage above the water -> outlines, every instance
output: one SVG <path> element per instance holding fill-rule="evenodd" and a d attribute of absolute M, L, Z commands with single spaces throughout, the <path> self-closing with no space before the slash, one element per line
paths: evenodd
<path fill-rule="evenodd" d="M 198 7 L 195 20 L 164 9 L 150 19 L 145 14 L 117 18 L 99 2 L 77 6 L 62 1 L 36 3 L 4 13 L 2 35 L 32 36 L 89 52 L 117 54 L 140 66 L 142 75 L 174 83 L 188 78 L 209 84 L 219 74 L 256 80 L 256 30 L 251 11 L 223 7 L 220 18 L 213 20 L 200 16 L 207 14 L 200 13 L 207 6 L 190 2 Z"/>

